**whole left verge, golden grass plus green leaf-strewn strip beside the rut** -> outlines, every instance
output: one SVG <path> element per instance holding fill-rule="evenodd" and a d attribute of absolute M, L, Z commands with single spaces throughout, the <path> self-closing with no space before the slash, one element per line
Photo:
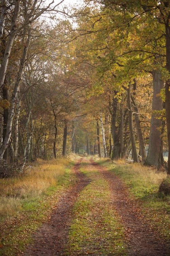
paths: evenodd
<path fill-rule="evenodd" d="M 0 181 L 0 255 L 24 251 L 33 231 L 50 218 L 60 195 L 75 182 L 72 165 L 68 159 L 38 160 L 27 176 Z"/>

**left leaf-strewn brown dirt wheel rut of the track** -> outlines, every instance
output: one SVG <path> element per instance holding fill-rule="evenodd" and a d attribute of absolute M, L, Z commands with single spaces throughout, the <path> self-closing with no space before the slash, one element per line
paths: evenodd
<path fill-rule="evenodd" d="M 90 180 L 79 172 L 80 162 L 74 166 L 73 171 L 79 178 L 75 186 L 69 189 L 57 202 L 57 210 L 52 215 L 49 223 L 41 226 L 34 236 L 34 244 L 29 245 L 25 256 L 61 256 L 64 255 L 64 245 L 72 218 L 72 208 L 80 191 L 89 184 Z"/>

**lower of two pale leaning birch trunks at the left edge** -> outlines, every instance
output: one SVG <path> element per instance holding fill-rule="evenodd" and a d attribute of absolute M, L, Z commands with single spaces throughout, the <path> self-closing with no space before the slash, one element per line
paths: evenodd
<path fill-rule="evenodd" d="M 12 94 L 11 106 L 10 106 L 10 109 L 9 109 L 8 121 L 7 121 L 7 126 L 6 126 L 6 135 L 5 135 L 5 138 L 3 140 L 2 146 L 0 148 L 0 159 L 3 158 L 4 152 L 5 152 L 5 150 L 8 146 L 8 142 L 9 142 L 10 137 L 11 137 L 11 129 L 12 129 L 12 122 L 13 122 L 13 117 L 14 117 L 15 101 L 16 101 L 16 96 L 17 96 L 20 81 L 21 81 L 22 72 L 23 72 L 23 69 L 24 69 L 24 63 L 25 63 L 25 60 L 26 60 L 26 57 L 27 57 L 28 48 L 29 48 L 29 45 L 30 45 L 30 40 L 31 40 L 31 33 L 30 33 L 30 30 L 29 30 L 27 42 L 26 42 L 26 45 L 25 45 L 24 50 L 23 50 L 22 58 L 20 60 L 20 68 L 19 68 L 19 71 L 18 71 L 17 80 L 16 80 L 16 83 L 15 83 L 15 86 L 14 86 L 14 91 L 13 91 L 13 94 Z M 1 78 L 0 78 L 0 81 L 2 81 Z M 4 81 L 4 79 L 3 79 L 3 81 Z M 1 84 L 1 82 L 0 82 L 0 84 Z"/>

